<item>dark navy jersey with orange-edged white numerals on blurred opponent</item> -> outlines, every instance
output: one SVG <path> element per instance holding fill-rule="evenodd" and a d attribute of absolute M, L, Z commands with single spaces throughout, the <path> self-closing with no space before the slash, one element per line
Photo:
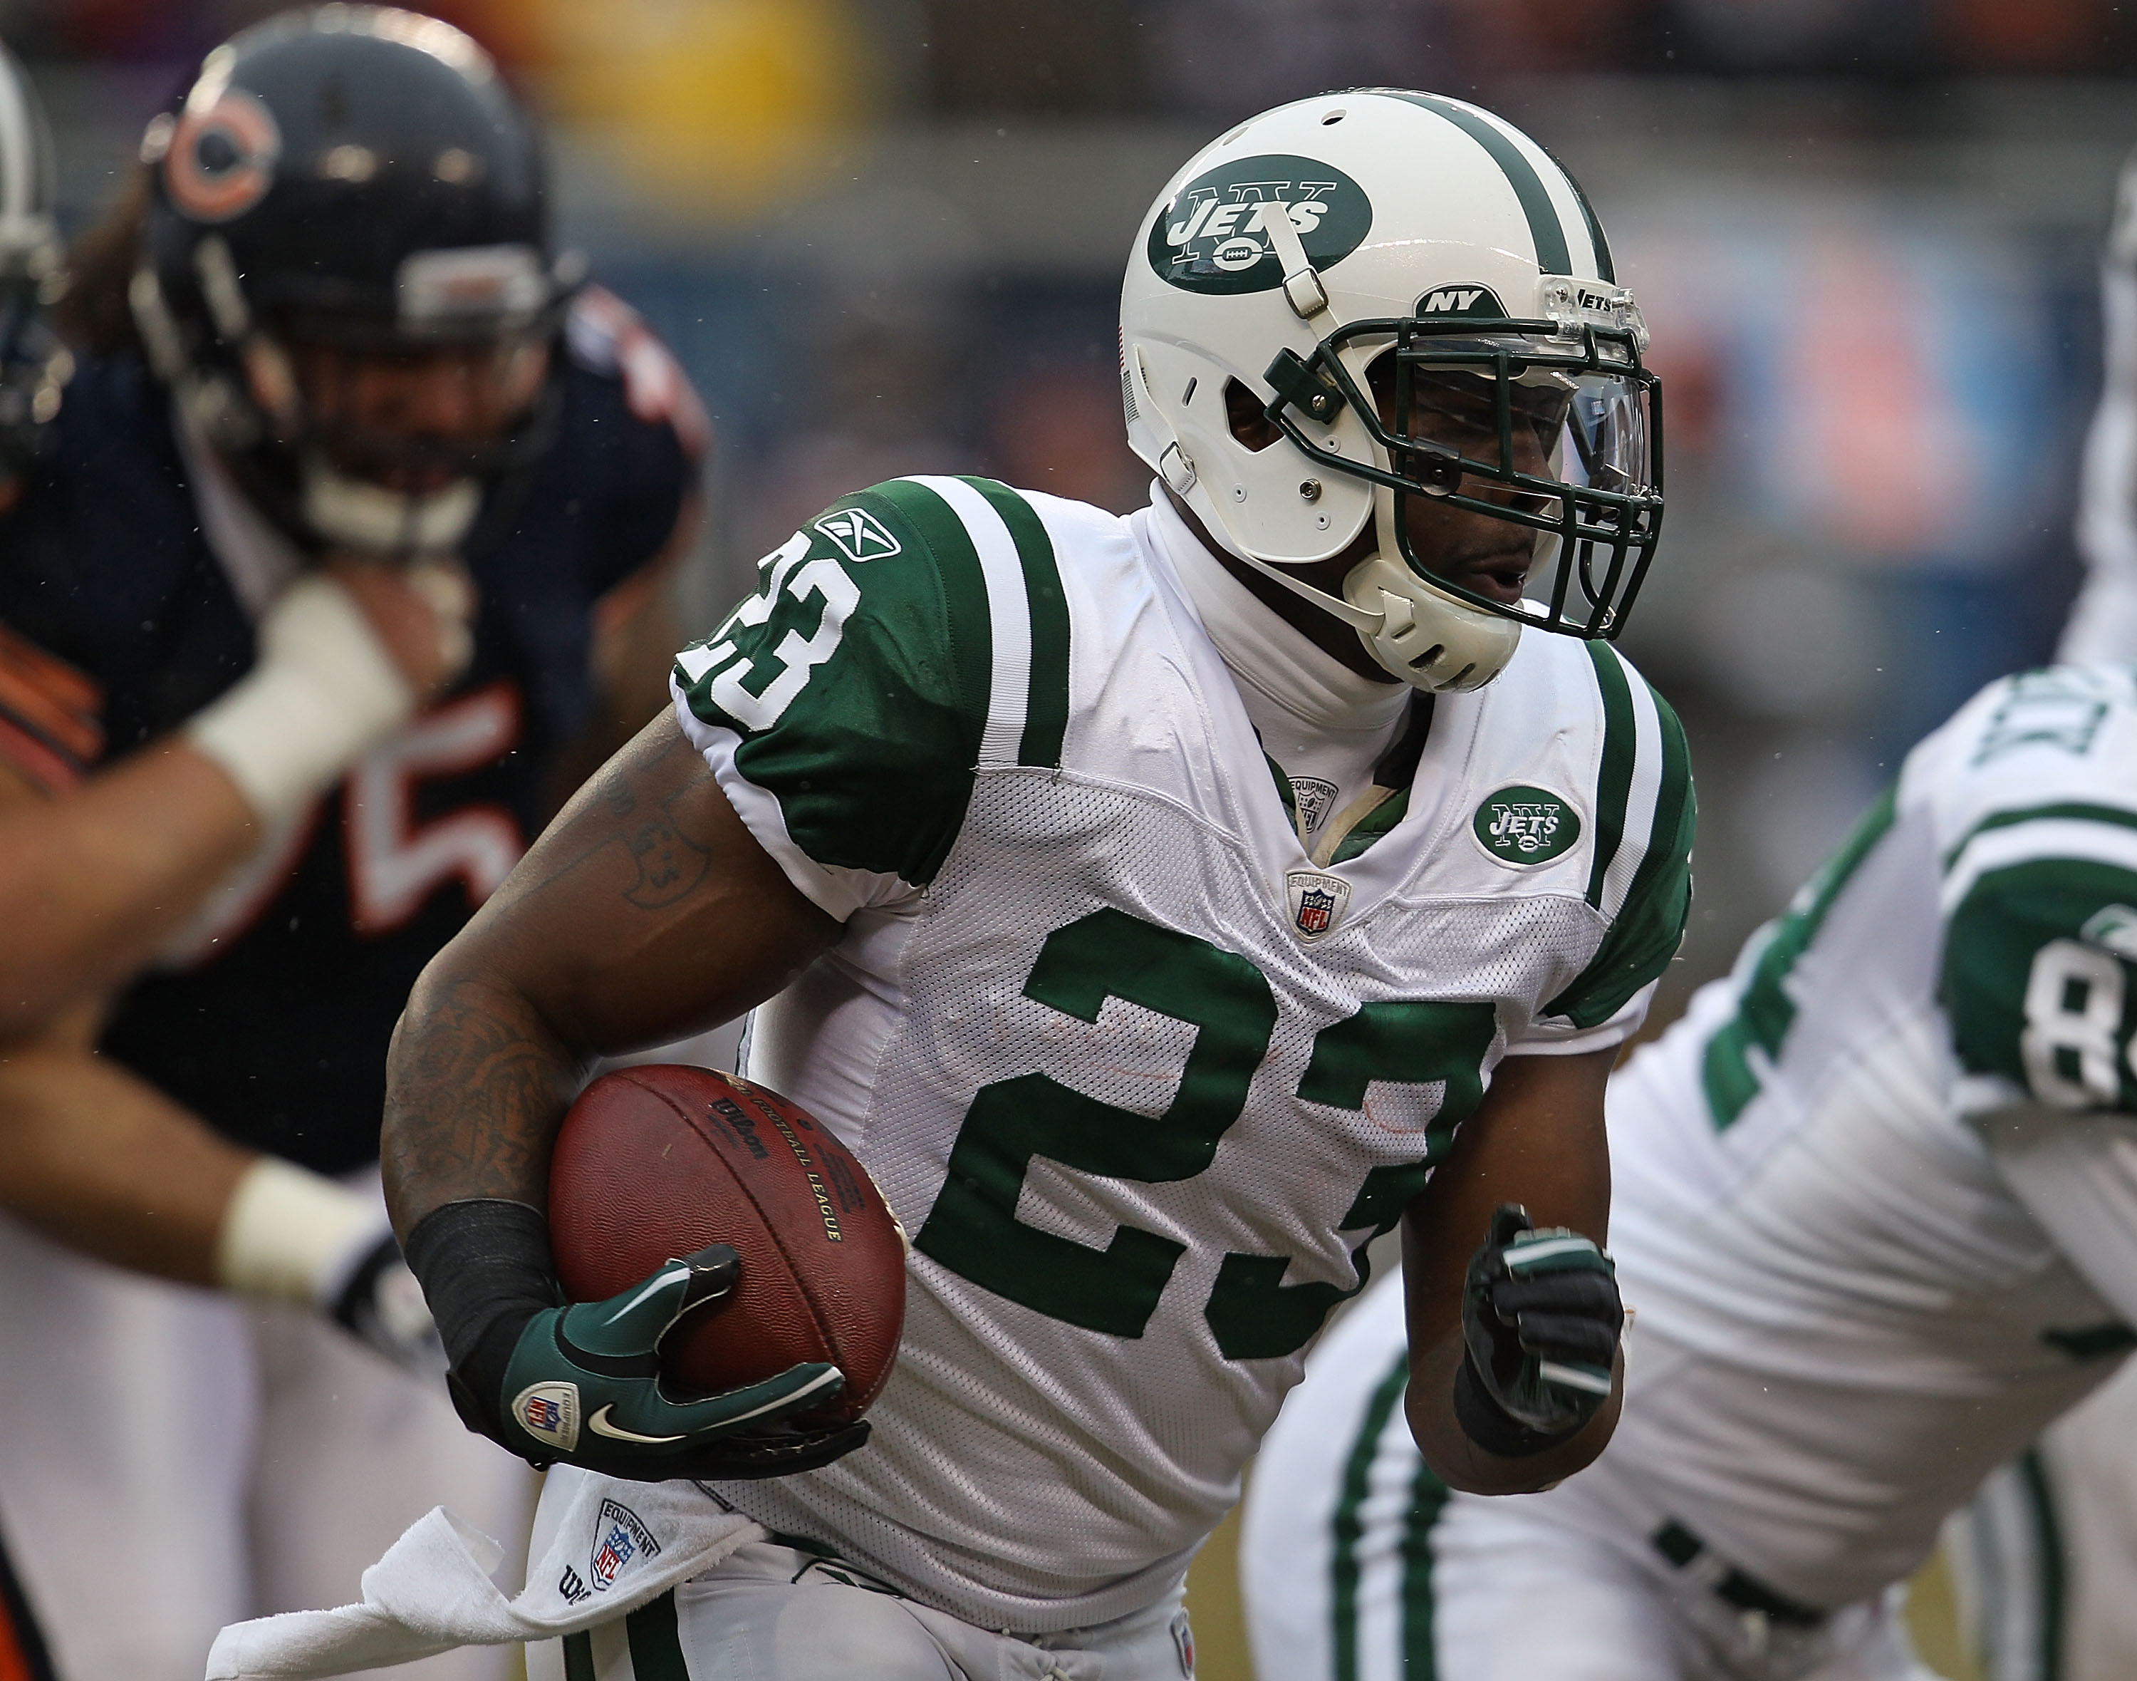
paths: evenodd
<path fill-rule="evenodd" d="M 545 815 L 558 749 L 594 719 L 596 603 L 660 554 L 697 481 L 703 411 L 637 317 L 590 293 L 566 344 L 556 443 L 464 556 L 466 676 L 254 860 L 105 1031 L 229 1138 L 321 1172 L 378 1155 L 393 1020 Z M 0 522 L 0 759 L 64 787 L 98 731 L 122 755 L 250 669 L 201 524 L 169 391 L 132 355 L 83 361 Z"/>

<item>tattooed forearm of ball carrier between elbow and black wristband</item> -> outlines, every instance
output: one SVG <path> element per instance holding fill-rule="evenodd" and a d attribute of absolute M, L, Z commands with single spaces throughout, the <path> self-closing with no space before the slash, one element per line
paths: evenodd
<path fill-rule="evenodd" d="M 549 1140 L 581 1069 L 532 1016 L 485 994 L 449 982 L 395 1035 L 380 1140 L 389 1189 L 410 1193 L 395 1196 L 395 1213 L 462 1198 L 545 1202 Z"/>

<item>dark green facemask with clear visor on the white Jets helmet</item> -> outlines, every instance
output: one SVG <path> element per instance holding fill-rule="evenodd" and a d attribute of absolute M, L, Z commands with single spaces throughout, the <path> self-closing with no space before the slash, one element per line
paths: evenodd
<path fill-rule="evenodd" d="M 1663 528 L 1663 389 L 1641 338 L 1596 321 L 1353 321 L 1310 357 L 1276 355 L 1265 413 L 1316 466 L 1393 492 L 1395 545 L 1419 577 L 1537 629 L 1616 639 Z M 1344 366 L 1353 346 L 1370 389 Z M 1385 468 L 1325 447 L 1344 408 Z M 1532 530 L 1530 586 L 1551 567 L 1543 599 L 1509 605 L 1434 573 L 1410 539 L 1413 496 Z"/>

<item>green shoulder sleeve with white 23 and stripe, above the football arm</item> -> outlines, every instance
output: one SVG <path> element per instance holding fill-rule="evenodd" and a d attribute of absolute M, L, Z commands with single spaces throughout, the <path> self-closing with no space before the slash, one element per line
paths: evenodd
<path fill-rule="evenodd" d="M 699 746 L 735 740 L 729 796 L 844 917 L 934 879 L 977 766 L 1060 764 L 1054 545 L 1030 503 L 987 479 L 880 483 L 767 554 L 756 592 L 684 648 L 673 682 Z"/>

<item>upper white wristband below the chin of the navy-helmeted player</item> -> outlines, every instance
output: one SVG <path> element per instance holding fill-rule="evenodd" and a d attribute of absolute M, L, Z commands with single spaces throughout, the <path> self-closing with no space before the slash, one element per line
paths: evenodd
<path fill-rule="evenodd" d="M 263 826 L 293 815 L 400 729 L 417 695 L 331 577 L 299 577 L 259 627 L 252 672 L 186 723 Z"/>

